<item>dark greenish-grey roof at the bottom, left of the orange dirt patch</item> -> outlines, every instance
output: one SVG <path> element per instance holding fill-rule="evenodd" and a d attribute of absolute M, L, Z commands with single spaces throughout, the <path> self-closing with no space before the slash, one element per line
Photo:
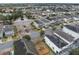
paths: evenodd
<path fill-rule="evenodd" d="M 25 48 L 24 43 L 21 40 L 15 41 L 14 42 L 15 46 L 15 55 L 26 55 L 27 49 Z"/>

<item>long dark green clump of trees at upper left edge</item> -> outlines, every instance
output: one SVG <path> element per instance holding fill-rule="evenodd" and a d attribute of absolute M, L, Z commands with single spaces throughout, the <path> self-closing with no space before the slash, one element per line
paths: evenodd
<path fill-rule="evenodd" d="M 12 21 L 15 21 L 17 18 L 23 18 L 23 13 L 21 10 L 15 11 L 12 15 L 2 15 L 0 14 L 0 20 L 4 21 L 4 23 L 12 24 Z"/>

